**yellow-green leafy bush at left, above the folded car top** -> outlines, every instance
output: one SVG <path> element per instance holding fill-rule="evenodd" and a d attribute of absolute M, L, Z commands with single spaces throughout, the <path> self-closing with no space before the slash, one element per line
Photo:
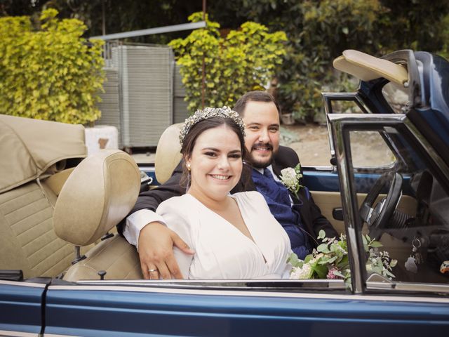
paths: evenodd
<path fill-rule="evenodd" d="M 102 41 L 87 43 L 76 19 L 43 11 L 37 27 L 29 17 L 0 18 L 0 113 L 86 124 L 100 117 Z"/>

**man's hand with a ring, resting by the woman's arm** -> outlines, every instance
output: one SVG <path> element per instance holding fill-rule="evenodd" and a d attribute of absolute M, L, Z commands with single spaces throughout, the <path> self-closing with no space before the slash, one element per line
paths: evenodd
<path fill-rule="evenodd" d="M 157 222 L 143 227 L 138 246 L 140 267 L 145 279 L 182 279 L 173 255 L 173 246 L 187 254 L 194 253 L 173 230 Z"/>

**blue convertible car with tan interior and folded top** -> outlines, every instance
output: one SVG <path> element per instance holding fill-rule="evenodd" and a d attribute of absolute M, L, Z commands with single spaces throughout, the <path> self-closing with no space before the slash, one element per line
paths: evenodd
<path fill-rule="evenodd" d="M 82 126 L 0 115 L 0 335 L 448 336 L 449 62 L 344 51 L 334 67 L 360 85 L 323 93 L 330 165 L 304 167 L 304 184 L 346 234 L 349 289 L 144 280 L 114 232 L 140 190 L 133 159 L 83 159 Z M 179 160 L 178 130 L 161 137 L 160 183 Z M 367 267 L 366 233 L 398 260 L 395 277 Z"/>

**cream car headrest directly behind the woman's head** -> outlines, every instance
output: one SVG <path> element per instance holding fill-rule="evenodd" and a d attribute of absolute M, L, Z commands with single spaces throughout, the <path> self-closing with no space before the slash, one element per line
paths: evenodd
<path fill-rule="evenodd" d="M 182 123 L 178 123 L 168 126 L 159 138 L 156 156 L 154 157 L 154 170 L 156 179 L 160 184 L 165 183 L 170 178 L 171 173 L 182 159 L 179 138 L 182 125 Z"/>

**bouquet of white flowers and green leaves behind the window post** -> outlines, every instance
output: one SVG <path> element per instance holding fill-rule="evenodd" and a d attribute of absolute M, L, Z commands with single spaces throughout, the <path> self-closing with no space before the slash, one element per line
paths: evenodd
<path fill-rule="evenodd" d="M 387 251 L 379 251 L 382 247 L 380 242 L 370 239 L 368 235 L 363 235 L 363 247 L 366 251 L 366 271 L 369 274 L 378 274 L 391 279 L 394 275 L 392 268 L 396 265 L 396 260 L 391 260 Z M 340 235 L 328 238 L 323 230 L 320 230 L 318 239 L 322 239 L 320 244 L 304 260 L 297 258 L 292 253 L 288 262 L 293 265 L 290 271 L 290 279 L 344 279 L 344 283 L 351 288 L 351 270 L 349 268 L 348 247 L 346 236 Z"/>

